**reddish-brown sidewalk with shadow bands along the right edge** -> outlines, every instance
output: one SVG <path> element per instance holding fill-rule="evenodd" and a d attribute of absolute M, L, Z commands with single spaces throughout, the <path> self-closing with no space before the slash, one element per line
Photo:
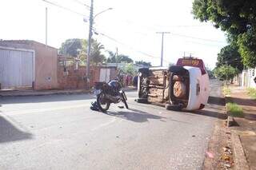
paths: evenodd
<path fill-rule="evenodd" d="M 240 150 L 242 150 L 249 168 L 256 170 L 256 100 L 252 100 L 247 95 L 246 89 L 241 87 L 231 85 L 230 90 L 230 100 L 242 107 L 244 115 L 244 118 L 234 117 L 237 125 L 230 127 L 233 135 L 238 136 L 238 141 L 233 144 L 234 155 L 241 155 L 241 152 L 236 152 L 236 145 L 241 143 L 242 149 Z M 239 161 L 242 158 L 237 156 L 237 159 Z"/>

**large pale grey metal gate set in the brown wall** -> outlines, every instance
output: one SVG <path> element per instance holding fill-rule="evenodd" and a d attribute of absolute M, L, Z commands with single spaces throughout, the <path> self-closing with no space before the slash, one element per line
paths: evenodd
<path fill-rule="evenodd" d="M 0 47 L 1 89 L 32 87 L 34 51 Z"/>

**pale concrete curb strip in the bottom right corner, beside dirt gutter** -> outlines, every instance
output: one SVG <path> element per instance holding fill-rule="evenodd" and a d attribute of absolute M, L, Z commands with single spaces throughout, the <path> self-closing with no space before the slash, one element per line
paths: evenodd
<path fill-rule="evenodd" d="M 246 161 L 246 155 L 242 148 L 240 136 L 234 130 L 231 130 L 231 141 L 234 150 L 234 168 L 238 170 L 249 170 L 250 168 Z"/>

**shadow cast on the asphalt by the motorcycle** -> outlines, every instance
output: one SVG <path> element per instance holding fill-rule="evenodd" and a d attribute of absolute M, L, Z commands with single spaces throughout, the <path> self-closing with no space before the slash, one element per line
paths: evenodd
<path fill-rule="evenodd" d="M 149 114 L 137 109 L 129 109 L 131 112 L 107 112 L 106 114 L 114 117 L 120 117 L 128 121 L 134 121 L 138 123 L 149 121 L 149 119 L 158 119 L 159 121 L 165 121 L 166 117 L 160 117 L 154 114 Z"/>

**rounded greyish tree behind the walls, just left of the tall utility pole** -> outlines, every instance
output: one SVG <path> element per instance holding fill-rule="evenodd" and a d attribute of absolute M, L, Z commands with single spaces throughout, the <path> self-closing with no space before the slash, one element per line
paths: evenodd
<path fill-rule="evenodd" d="M 78 57 L 81 49 L 82 39 L 72 38 L 62 42 L 62 46 L 60 47 L 59 52 L 63 55 Z"/>

